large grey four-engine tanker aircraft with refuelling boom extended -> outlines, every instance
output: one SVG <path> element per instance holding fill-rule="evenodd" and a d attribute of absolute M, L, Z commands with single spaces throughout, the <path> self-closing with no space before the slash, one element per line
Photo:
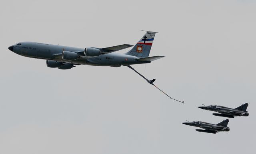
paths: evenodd
<path fill-rule="evenodd" d="M 105 48 L 77 48 L 36 42 L 20 42 L 10 46 L 9 49 L 14 53 L 25 57 L 46 59 L 46 65 L 48 67 L 55 67 L 58 69 L 71 69 L 72 67 L 75 67 L 74 65 L 95 65 L 111 67 L 120 67 L 123 65 L 138 73 L 130 65 L 151 63 L 154 60 L 164 57 L 149 57 L 150 49 L 152 47 L 156 33 L 157 32 L 146 31 L 146 34 L 138 41 L 138 43 L 136 43 L 135 46 L 129 44 L 122 44 Z M 132 46 L 134 47 L 127 53 L 114 53 L 115 51 L 126 49 Z M 153 82 L 156 79 L 148 80 L 140 73 L 138 74 L 143 77 L 148 83 L 154 85 Z M 156 87 L 156 85 L 154 86 Z M 159 89 L 158 87 L 156 88 Z M 167 95 L 166 93 L 164 94 Z M 170 99 L 173 98 L 170 97 Z M 179 102 L 184 103 L 184 101 Z"/>

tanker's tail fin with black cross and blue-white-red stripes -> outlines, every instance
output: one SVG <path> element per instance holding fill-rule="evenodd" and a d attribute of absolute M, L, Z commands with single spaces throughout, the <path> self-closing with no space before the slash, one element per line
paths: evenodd
<path fill-rule="evenodd" d="M 156 33 L 157 32 L 146 31 L 146 34 L 142 36 L 138 43 L 136 43 L 136 45 L 134 45 L 134 47 L 126 54 L 133 55 L 136 57 L 148 57 Z"/>

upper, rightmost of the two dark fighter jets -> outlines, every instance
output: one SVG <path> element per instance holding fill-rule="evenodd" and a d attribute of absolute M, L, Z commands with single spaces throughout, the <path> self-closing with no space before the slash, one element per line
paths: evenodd
<path fill-rule="evenodd" d="M 218 112 L 218 113 L 212 113 L 212 115 L 215 115 L 215 116 L 224 116 L 227 118 L 234 118 L 235 116 L 249 116 L 249 113 L 246 111 L 247 107 L 248 107 L 248 103 L 245 103 L 240 107 L 237 107 L 236 109 L 223 107 L 219 105 L 209 105 L 207 107 L 204 105 L 203 107 L 199 107 L 199 108 Z"/>

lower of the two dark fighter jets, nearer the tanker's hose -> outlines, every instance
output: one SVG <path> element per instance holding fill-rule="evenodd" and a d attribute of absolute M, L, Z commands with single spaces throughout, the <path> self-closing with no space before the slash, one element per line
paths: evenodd
<path fill-rule="evenodd" d="M 196 129 L 196 131 L 198 131 L 198 132 L 208 132 L 208 133 L 216 134 L 217 132 L 228 132 L 229 131 L 228 121 L 229 120 L 226 119 L 218 124 L 210 124 L 210 123 L 202 122 L 202 121 L 183 122 L 182 124 L 203 128 L 203 129 Z"/>

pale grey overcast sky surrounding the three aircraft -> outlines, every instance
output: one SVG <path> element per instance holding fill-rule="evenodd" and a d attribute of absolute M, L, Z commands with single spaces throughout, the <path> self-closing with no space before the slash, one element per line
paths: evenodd
<path fill-rule="evenodd" d="M 254 154 L 255 14 L 253 0 L 1 1 L 0 153 Z M 60 70 L 8 50 L 135 44 L 140 29 L 160 32 L 150 55 L 166 57 L 134 67 L 184 105 L 127 67 Z M 181 124 L 226 119 L 202 103 L 249 103 L 249 116 L 218 134 Z"/>

